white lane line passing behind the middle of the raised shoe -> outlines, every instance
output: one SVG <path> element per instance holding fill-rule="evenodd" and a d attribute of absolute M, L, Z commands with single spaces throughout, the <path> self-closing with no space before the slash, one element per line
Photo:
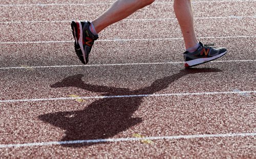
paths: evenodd
<path fill-rule="evenodd" d="M 231 39 L 231 38 L 256 38 L 256 36 L 224 36 L 224 37 L 200 37 L 198 39 Z M 118 42 L 118 41 L 159 41 L 159 40 L 183 40 L 183 38 L 155 38 L 155 39 L 102 39 L 95 42 Z M 69 43 L 70 41 L 22 41 L 22 42 L 0 42 L 0 44 L 33 44 L 33 43 Z"/>

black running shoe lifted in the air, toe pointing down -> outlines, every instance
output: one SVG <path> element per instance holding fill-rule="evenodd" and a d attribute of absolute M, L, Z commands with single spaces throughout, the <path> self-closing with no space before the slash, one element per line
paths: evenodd
<path fill-rule="evenodd" d="M 79 60 L 83 64 L 87 64 L 89 61 L 89 54 L 94 44 L 94 41 L 98 39 L 98 35 L 93 35 L 89 30 L 89 21 L 72 21 L 71 28 L 75 38 L 75 51 Z"/>

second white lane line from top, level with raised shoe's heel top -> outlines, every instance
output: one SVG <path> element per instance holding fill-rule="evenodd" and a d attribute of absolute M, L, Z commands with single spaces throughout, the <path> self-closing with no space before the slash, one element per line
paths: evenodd
<path fill-rule="evenodd" d="M 244 18 L 256 18 L 256 16 L 220 16 L 220 17 L 195 17 L 194 19 L 244 19 Z M 145 18 L 145 19 L 123 19 L 122 21 L 164 21 L 164 20 L 176 20 L 176 18 Z M 59 22 L 71 22 L 72 20 L 50 20 L 50 21 L 0 21 L 0 24 L 11 23 L 59 23 Z"/>

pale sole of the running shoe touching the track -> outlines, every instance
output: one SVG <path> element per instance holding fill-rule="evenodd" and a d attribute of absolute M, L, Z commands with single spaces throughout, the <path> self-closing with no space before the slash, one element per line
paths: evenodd
<path fill-rule="evenodd" d="M 216 59 L 222 57 L 223 55 L 225 55 L 226 53 L 227 53 L 227 51 L 225 51 L 217 56 L 211 57 L 211 58 L 199 58 L 199 59 L 195 59 L 195 60 L 186 61 L 185 67 L 189 68 L 189 67 L 197 66 L 200 64 L 204 64 L 206 62 L 210 62 L 212 60 L 216 60 Z"/>

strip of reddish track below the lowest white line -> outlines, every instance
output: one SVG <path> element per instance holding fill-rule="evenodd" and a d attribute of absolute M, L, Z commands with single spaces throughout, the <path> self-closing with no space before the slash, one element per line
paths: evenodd
<path fill-rule="evenodd" d="M 221 142 L 220 142 L 221 140 Z M 195 156 L 209 158 L 212 156 L 230 156 L 236 158 L 250 158 L 255 155 L 254 138 L 216 138 L 216 139 L 192 139 L 173 141 L 154 141 L 154 144 L 140 142 L 99 144 L 91 147 L 63 148 L 51 147 L 28 147 L 7 148 L 3 150 L 4 157 L 184 157 Z M 197 149 L 196 147 L 199 147 Z M 97 151 L 96 151 L 97 150 Z M 48 153 L 47 153 L 48 152 Z"/>

